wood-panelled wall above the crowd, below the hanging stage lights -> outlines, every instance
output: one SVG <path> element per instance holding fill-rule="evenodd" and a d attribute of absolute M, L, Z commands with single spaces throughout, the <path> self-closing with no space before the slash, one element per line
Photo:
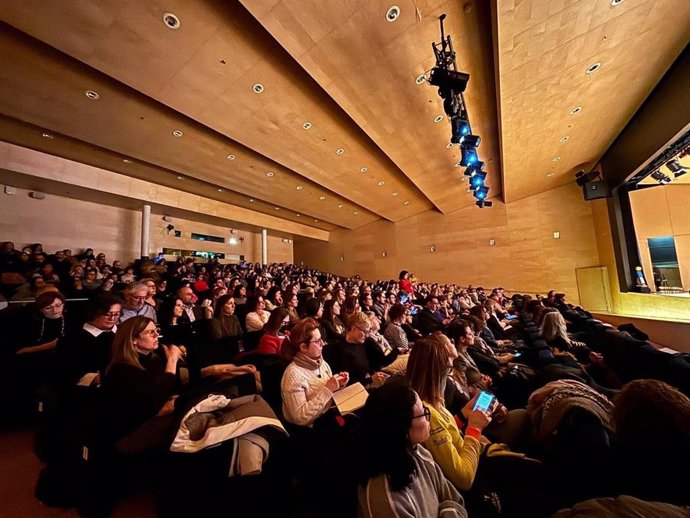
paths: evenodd
<path fill-rule="evenodd" d="M 554 231 L 560 239 L 553 238 Z M 496 240 L 494 246 L 490 239 Z M 574 301 L 575 268 L 599 265 L 591 206 L 575 185 L 507 205 L 496 201 L 482 210 L 427 211 L 397 223 L 336 231 L 329 243 L 296 238 L 294 253 L 298 263 L 341 275 L 397 278 L 405 269 L 432 282 L 539 293 L 554 288 Z"/>

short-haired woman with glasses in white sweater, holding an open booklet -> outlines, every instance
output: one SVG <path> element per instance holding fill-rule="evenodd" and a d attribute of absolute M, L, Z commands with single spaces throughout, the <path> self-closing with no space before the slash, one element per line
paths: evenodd
<path fill-rule="evenodd" d="M 282 352 L 291 362 L 280 390 L 283 415 L 292 424 L 312 426 L 331 407 L 333 393 L 350 380 L 347 372 L 333 375 L 321 356 L 323 345 L 319 324 L 313 318 L 298 321 L 283 342 Z"/>

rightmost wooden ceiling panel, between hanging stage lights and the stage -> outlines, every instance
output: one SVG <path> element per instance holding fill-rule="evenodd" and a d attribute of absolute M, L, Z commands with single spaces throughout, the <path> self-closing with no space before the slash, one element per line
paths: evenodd
<path fill-rule="evenodd" d="M 690 40 L 685 0 L 496 6 L 506 201 L 593 167 Z"/>

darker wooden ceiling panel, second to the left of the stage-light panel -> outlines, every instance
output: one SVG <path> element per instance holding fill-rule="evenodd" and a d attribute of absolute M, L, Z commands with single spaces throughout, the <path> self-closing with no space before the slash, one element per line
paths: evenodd
<path fill-rule="evenodd" d="M 69 60 L 57 52 L 27 40 L 9 28 L 0 31 L 0 112 L 7 116 L 248 197 L 294 206 L 295 213 L 346 228 L 377 219 L 360 206 L 87 67 L 70 67 Z M 36 66 L 24 71 L 25 63 Z M 87 99 L 87 88 L 98 91 L 101 98 Z M 172 136 L 175 129 L 184 136 Z M 229 153 L 236 160 L 228 160 Z M 266 176 L 268 171 L 274 174 L 272 178 Z M 298 192 L 297 185 L 304 192 Z M 320 196 L 330 203 L 319 204 Z M 305 203 L 308 209 L 302 209 Z M 338 205 L 343 209 L 331 210 Z"/>

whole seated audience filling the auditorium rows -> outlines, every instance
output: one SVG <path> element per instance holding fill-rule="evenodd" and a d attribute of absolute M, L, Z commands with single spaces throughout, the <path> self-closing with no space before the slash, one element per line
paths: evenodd
<path fill-rule="evenodd" d="M 610 343 L 651 347 L 639 331 L 562 293 L 12 243 L 0 276 L 16 411 L 53 394 L 56 414 L 81 414 L 116 455 L 169 449 L 210 393 L 260 393 L 289 433 L 278 480 L 302 484 L 293 504 L 315 515 L 550 516 L 618 495 L 690 505 L 676 475 L 690 461 L 687 385 L 660 357 L 656 379 L 631 376 Z M 366 403 L 339 412 L 356 384 Z"/>

